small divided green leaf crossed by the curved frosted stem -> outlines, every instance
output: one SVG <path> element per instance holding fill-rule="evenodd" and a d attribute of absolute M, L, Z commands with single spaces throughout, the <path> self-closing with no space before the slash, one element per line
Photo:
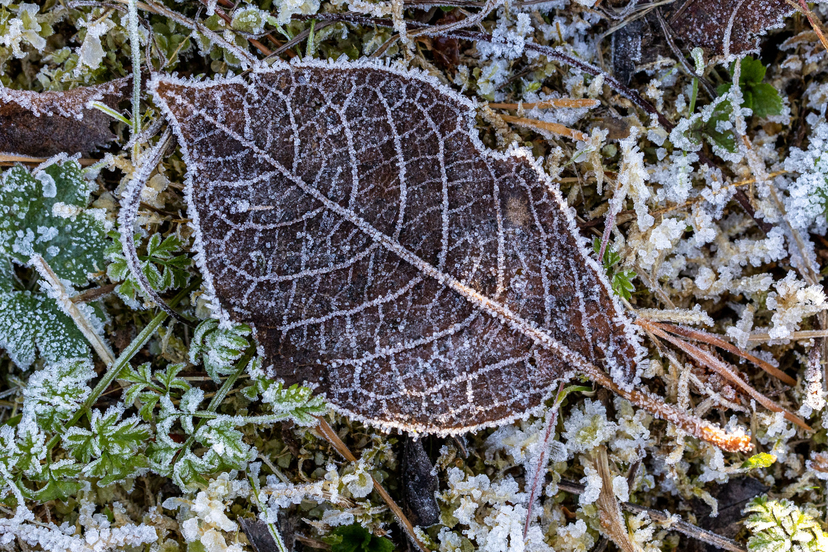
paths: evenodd
<path fill-rule="evenodd" d="M 109 237 L 112 238 L 112 245 L 108 247 L 106 255 L 112 262 L 107 266 L 107 276 L 110 281 L 122 282 L 115 291 L 128 305 L 137 309 L 136 296 L 141 295 L 141 287 L 129 273 L 119 234 L 111 232 Z M 141 247 L 141 234 L 136 234 L 134 239 L 135 247 Z M 138 255 L 138 260 L 141 262 L 141 271 L 147 276 L 153 290 L 161 292 L 171 288 L 177 289 L 186 286 L 190 281 L 190 273 L 185 270 L 190 266 L 190 257 L 185 253 L 176 255 L 183 245 L 184 242 L 175 234 L 162 238 L 161 234 L 156 233 L 147 240 L 147 253 Z"/>

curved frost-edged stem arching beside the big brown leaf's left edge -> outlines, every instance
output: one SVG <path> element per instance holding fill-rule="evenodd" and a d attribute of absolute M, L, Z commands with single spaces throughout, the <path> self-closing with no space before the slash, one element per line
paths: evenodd
<path fill-rule="evenodd" d="M 129 181 L 127 189 L 123 192 L 123 199 L 121 199 L 121 212 L 118 214 L 118 226 L 121 233 L 123 256 L 126 257 L 129 271 L 132 272 L 132 276 L 135 276 L 135 280 L 137 281 L 138 286 L 141 287 L 143 294 L 155 301 L 158 308 L 166 312 L 166 314 L 169 314 L 183 324 L 195 326 L 192 321 L 185 319 L 184 316 L 178 313 L 178 311 L 171 309 L 171 307 L 167 305 L 163 299 L 161 299 L 161 296 L 156 293 L 156 290 L 152 289 L 150 282 L 147 280 L 147 276 L 145 276 L 141 270 L 141 262 L 138 260 L 137 251 L 135 251 L 135 240 L 132 238 L 133 228 L 135 228 L 135 219 L 138 214 L 138 205 L 141 203 L 141 190 L 143 190 L 144 185 L 147 184 L 147 180 L 149 180 L 152 171 L 155 170 L 158 163 L 161 162 L 161 157 L 164 156 L 164 151 L 170 142 L 170 137 L 171 131 L 167 128 L 163 136 L 161 136 L 161 140 L 159 140 L 156 146 L 147 153 L 147 156 L 143 158 L 141 165 L 138 166 L 138 169 L 132 174 L 132 180 Z"/>

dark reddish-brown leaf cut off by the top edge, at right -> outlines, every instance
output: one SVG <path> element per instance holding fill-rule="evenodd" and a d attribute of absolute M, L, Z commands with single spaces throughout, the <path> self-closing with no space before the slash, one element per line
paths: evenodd
<path fill-rule="evenodd" d="M 672 8 L 668 22 L 687 51 L 698 46 L 728 57 L 757 54 L 759 36 L 797 10 L 786 0 L 690 0 Z"/>

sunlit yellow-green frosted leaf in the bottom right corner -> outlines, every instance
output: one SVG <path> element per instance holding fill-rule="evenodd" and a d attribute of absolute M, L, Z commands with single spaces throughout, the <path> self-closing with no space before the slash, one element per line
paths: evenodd
<path fill-rule="evenodd" d="M 828 534 L 812 516 L 785 498 L 756 497 L 744 509 L 751 516 L 744 526 L 751 532 L 750 552 L 824 552 Z"/>

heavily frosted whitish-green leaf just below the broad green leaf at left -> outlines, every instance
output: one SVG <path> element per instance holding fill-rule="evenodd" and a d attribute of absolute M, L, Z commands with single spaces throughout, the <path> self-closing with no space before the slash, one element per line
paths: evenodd
<path fill-rule="evenodd" d="M 43 430 L 59 433 L 89 396 L 89 382 L 95 376 L 87 358 L 68 358 L 47 364 L 29 377 L 23 391 L 23 415 L 37 420 Z"/>

